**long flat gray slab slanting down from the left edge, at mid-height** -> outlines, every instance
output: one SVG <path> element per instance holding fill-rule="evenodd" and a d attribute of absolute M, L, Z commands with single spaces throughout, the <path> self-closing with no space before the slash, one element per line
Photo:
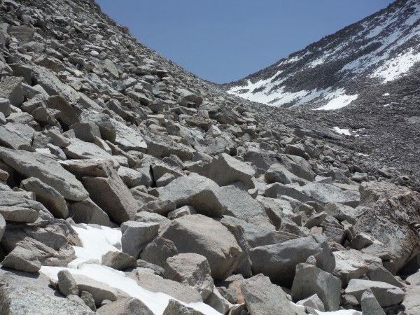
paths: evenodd
<path fill-rule="evenodd" d="M 46 155 L 1 148 L 0 159 L 23 176 L 36 177 L 55 188 L 67 200 L 81 201 L 89 197 L 89 193 L 73 174 Z"/>

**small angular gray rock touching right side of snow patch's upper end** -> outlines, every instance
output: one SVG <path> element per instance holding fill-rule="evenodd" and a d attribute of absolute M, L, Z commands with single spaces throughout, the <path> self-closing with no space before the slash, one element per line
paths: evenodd
<path fill-rule="evenodd" d="M 138 258 L 139 254 L 158 234 L 158 223 L 127 221 L 121 225 L 123 252 Z"/>

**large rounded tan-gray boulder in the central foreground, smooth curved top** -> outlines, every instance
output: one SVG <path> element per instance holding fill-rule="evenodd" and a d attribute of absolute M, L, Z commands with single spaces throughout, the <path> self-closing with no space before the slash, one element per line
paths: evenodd
<path fill-rule="evenodd" d="M 228 228 L 200 214 L 176 218 L 162 237 L 173 241 L 179 253 L 207 257 L 214 279 L 230 276 L 243 254 Z"/>

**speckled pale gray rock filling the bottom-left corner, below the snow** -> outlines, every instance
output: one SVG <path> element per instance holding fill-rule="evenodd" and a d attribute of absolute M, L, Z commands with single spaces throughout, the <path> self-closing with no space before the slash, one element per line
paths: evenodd
<path fill-rule="evenodd" d="M 0 309 L 3 314 L 94 314 L 82 305 L 50 295 L 6 284 L 0 287 Z"/>

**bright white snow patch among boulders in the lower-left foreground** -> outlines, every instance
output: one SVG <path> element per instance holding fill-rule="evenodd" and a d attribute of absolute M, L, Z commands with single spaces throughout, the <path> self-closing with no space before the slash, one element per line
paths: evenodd
<path fill-rule="evenodd" d="M 124 272 L 99 264 L 86 262 L 90 259 L 99 260 L 100 262 L 102 255 L 108 251 L 119 251 L 121 244 L 120 229 L 85 227 L 86 229 L 73 227 L 83 244 L 83 248 L 73 246 L 76 251 L 76 260 L 70 262 L 67 268 L 43 266 L 40 271 L 55 280 L 57 280 L 59 270 L 62 269 L 69 270 L 71 274 L 88 276 L 96 281 L 106 283 L 113 288 L 123 290 L 128 295 L 136 297 L 144 302 L 144 304 L 146 304 L 155 314 L 162 314 L 167 307 L 169 299 L 174 299 L 174 297 L 165 293 L 154 293 L 141 288 L 134 279 L 125 276 Z M 181 303 L 193 307 L 204 314 L 220 315 L 218 311 L 204 303 Z"/>

